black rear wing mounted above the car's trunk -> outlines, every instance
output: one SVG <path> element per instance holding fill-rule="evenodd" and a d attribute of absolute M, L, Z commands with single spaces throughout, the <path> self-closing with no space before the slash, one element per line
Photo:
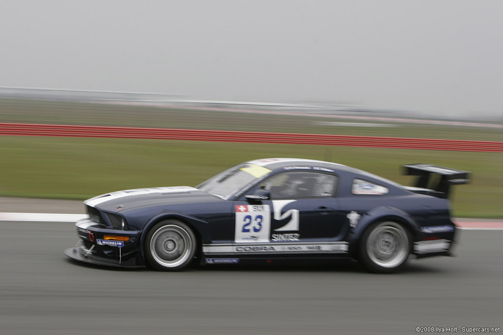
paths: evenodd
<path fill-rule="evenodd" d="M 449 169 L 449 167 L 431 164 L 408 164 L 403 167 L 405 175 L 418 176 L 415 187 L 434 190 L 437 192 L 435 196 L 439 198 L 449 196 L 451 185 L 467 184 L 470 181 L 468 179 L 469 172 Z M 432 175 L 439 175 L 440 178 L 431 178 Z"/>

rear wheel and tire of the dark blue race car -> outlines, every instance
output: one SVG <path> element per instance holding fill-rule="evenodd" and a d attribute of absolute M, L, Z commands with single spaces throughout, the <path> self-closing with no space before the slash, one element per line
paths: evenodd
<path fill-rule="evenodd" d="M 375 273 L 393 273 L 405 266 L 410 254 L 408 230 L 392 221 L 376 222 L 362 235 L 360 262 Z"/>

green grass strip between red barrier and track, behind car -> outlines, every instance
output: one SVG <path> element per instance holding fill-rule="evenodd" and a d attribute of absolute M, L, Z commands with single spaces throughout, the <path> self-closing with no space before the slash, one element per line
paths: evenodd
<path fill-rule="evenodd" d="M 134 188 L 195 186 L 241 161 L 299 157 L 338 162 L 404 185 L 405 163 L 472 172 L 455 186 L 453 215 L 503 218 L 500 153 L 376 149 L 323 145 L 221 143 L 149 139 L 0 136 L 0 196 L 86 199 Z"/>

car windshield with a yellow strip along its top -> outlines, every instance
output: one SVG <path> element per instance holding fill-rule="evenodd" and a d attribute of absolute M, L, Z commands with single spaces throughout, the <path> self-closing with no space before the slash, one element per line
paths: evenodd
<path fill-rule="evenodd" d="M 271 170 L 255 164 L 239 164 L 196 186 L 199 190 L 228 199 Z"/>

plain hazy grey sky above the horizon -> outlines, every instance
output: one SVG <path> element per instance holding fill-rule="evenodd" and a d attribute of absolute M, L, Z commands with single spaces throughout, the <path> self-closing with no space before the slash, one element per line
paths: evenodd
<path fill-rule="evenodd" d="M 503 114 L 503 1 L 0 0 L 0 86 Z"/>

